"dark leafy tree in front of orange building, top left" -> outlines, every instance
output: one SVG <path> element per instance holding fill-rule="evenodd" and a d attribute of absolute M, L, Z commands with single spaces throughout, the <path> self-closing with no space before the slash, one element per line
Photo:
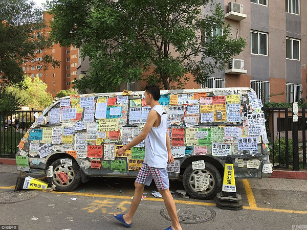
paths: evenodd
<path fill-rule="evenodd" d="M 51 45 L 41 32 L 46 28 L 42 11 L 32 1 L 2 0 L 0 2 L 0 76 L 4 82 L 23 80 L 22 64 L 32 60 L 36 50 Z M 51 55 L 45 55 L 38 64 L 59 66 Z"/>

